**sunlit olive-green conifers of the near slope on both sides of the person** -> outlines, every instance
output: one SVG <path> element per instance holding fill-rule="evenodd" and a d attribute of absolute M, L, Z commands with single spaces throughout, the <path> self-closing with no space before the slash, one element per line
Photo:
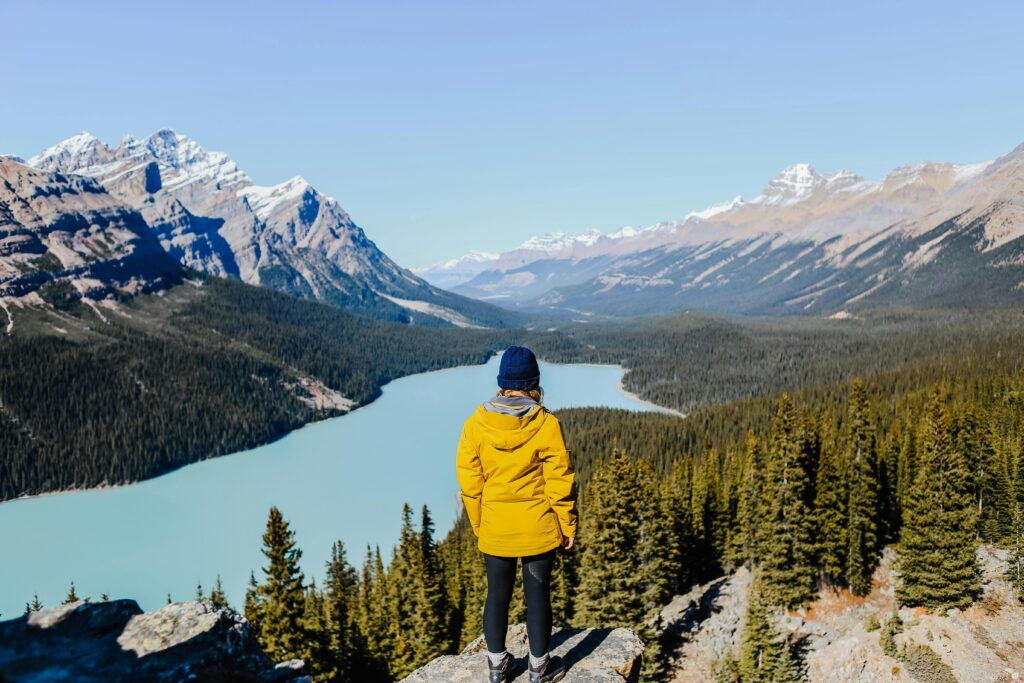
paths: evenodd
<path fill-rule="evenodd" d="M 865 595 L 886 546 L 901 605 L 971 604 L 979 544 L 1012 551 L 1024 590 L 1024 374 L 1006 359 L 935 382 L 883 375 L 737 401 L 698 421 L 560 412 L 582 494 L 578 550 L 559 553 L 553 579 L 555 623 L 634 629 L 643 680 L 663 680 L 676 643 L 660 608 L 746 566 L 746 626 L 719 679 L 788 681 L 801 680 L 797 646 L 769 613 L 821 589 Z M 302 575 L 294 533 L 270 511 L 245 611 L 274 658 L 305 658 L 318 681 L 395 681 L 480 634 L 486 587 L 467 519 L 438 543 L 429 510 L 401 515 L 390 553 L 349 559 L 339 543 L 321 579 Z M 523 612 L 517 593 L 511 621 Z"/>

